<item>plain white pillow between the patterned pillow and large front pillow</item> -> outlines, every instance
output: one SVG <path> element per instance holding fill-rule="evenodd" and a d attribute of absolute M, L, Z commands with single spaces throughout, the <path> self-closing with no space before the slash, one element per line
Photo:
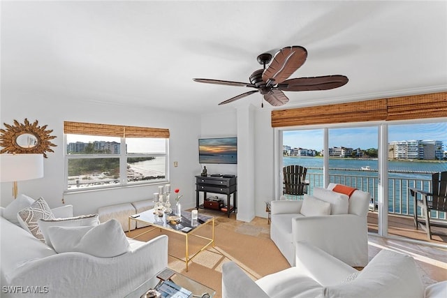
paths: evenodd
<path fill-rule="evenodd" d="M 58 227 L 82 227 L 86 225 L 93 227 L 94 225 L 99 225 L 99 216 L 98 214 L 90 214 L 68 218 L 39 219 L 38 226 L 41 229 L 47 246 L 52 247 L 50 237 L 48 237 L 48 228 L 56 225 Z"/>

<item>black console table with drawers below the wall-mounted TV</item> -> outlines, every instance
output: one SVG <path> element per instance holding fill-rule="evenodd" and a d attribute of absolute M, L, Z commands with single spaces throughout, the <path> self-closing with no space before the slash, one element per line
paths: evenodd
<path fill-rule="evenodd" d="M 203 192 L 204 200 L 207 193 L 226 195 L 226 214 L 230 217 L 231 212 L 237 212 L 237 177 L 196 176 L 196 209 L 203 208 L 203 204 L 200 205 L 200 192 Z M 230 204 L 231 195 L 233 205 Z"/>

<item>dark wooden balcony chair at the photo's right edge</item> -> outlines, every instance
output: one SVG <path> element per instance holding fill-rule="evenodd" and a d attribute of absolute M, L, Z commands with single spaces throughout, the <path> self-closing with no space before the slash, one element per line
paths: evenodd
<path fill-rule="evenodd" d="M 447 172 L 434 173 L 432 175 L 432 192 L 423 191 L 417 188 L 409 188 L 414 198 L 414 224 L 416 230 L 419 228 L 418 208 L 421 208 L 421 214 L 425 219 L 425 229 L 429 239 L 432 239 L 432 230 L 430 225 L 431 211 L 447 212 Z M 418 200 L 418 193 L 421 199 Z"/>

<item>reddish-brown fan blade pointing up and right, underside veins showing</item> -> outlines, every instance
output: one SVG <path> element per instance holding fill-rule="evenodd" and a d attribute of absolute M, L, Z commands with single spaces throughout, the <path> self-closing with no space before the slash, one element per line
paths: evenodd
<path fill-rule="evenodd" d="M 293 45 L 279 50 L 272 62 L 263 73 L 263 81 L 268 85 L 279 84 L 287 80 L 295 71 L 305 63 L 307 50 L 304 47 Z"/>

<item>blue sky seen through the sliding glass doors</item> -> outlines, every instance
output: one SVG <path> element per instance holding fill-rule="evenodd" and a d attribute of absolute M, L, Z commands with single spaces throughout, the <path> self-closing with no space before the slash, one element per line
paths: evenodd
<path fill-rule="evenodd" d="M 402 140 L 439 140 L 447 150 L 447 122 L 388 126 L 388 142 Z M 378 128 L 330 128 L 329 147 L 377 148 Z M 323 149 L 323 129 L 284 131 L 283 144 L 292 148 Z"/>

